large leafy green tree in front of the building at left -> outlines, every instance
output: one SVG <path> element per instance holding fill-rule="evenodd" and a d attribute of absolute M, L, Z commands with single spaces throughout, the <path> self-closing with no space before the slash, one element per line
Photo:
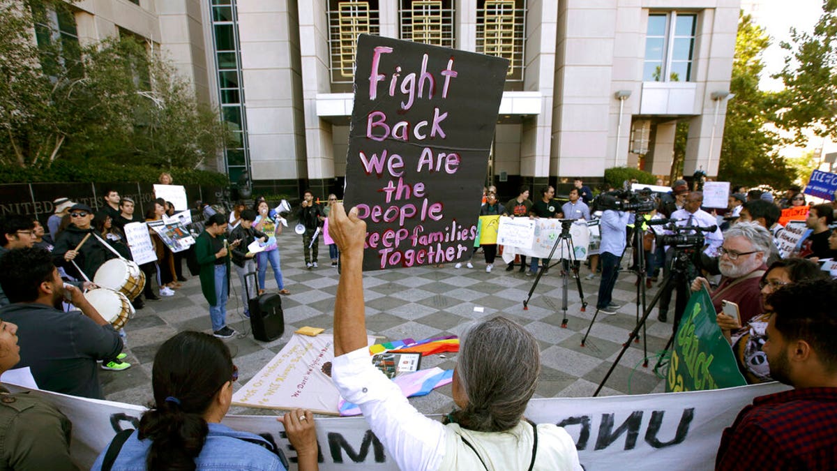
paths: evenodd
<path fill-rule="evenodd" d="M 72 22 L 68 8 L 0 2 L 0 164 L 193 169 L 223 149 L 229 132 L 218 111 L 198 103 L 170 62 L 131 36 L 85 48 L 61 39 L 46 13 Z"/>

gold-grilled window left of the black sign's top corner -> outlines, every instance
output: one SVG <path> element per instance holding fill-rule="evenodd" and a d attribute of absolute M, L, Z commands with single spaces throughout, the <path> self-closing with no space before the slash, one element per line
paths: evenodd
<path fill-rule="evenodd" d="M 330 0 L 328 45 L 331 50 L 331 83 L 351 84 L 359 34 L 378 34 L 377 1 Z"/>

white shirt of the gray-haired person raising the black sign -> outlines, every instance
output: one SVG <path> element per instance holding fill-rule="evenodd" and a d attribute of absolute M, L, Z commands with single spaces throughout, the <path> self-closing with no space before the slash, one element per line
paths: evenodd
<path fill-rule="evenodd" d="M 456 424 L 445 426 L 425 417 L 393 381 L 372 366 L 367 347 L 336 357 L 331 364 L 331 379 L 344 399 L 360 406 L 372 432 L 400 469 L 482 469 L 480 458 L 494 469 L 529 467 L 533 434 L 528 423 L 489 433 L 461 429 Z M 537 434 L 535 469 L 582 469 L 573 437 L 567 431 L 554 424 L 540 424 Z"/>

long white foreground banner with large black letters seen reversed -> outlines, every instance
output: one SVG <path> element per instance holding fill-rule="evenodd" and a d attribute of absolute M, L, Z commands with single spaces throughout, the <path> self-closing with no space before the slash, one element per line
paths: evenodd
<path fill-rule="evenodd" d="M 15 386 L 9 389 L 25 391 Z M 752 403 L 753 397 L 787 389 L 769 383 L 714 391 L 533 399 L 526 417 L 532 422 L 565 427 L 576 441 L 587 471 L 701 471 L 714 468 L 721 432 L 732 424 L 738 411 Z M 32 394 L 51 402 L 73 422 L 70 451 L 76 465 L 83 469 L 90 468 L 116 432 L 136 428 L 145 411 L 141 406 L 49 391 Z M 223 423 L 267 437 L 295 463 L 295 453 L 276 417 L 227 416 Z M 316 428 L 321 469 L 398 469 L 363 417 L 318 418 Z"/>

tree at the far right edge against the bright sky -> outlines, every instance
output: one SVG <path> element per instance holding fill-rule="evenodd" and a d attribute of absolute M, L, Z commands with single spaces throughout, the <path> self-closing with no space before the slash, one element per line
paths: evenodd
<path fill-rule="evenodd" d="M 823 14 L 812 33 L 791 28 L 789 55 L 774 77 L 784 90 L 776 98 L 776 123 L 804 143 L 803 130 L 820 137 L 837 137 L 837 0 L 824 0 Z M 783 104 L 792 104 L 783 106 Z"/>

